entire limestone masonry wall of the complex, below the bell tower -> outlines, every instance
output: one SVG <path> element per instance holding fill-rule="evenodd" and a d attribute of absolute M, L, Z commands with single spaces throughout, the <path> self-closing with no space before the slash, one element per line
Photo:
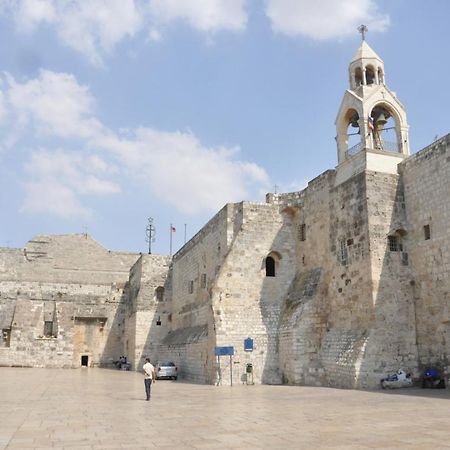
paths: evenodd
<path fill-rule="evenodd" d="M 449 147 L 446 136 L 397 174 L 329 170 L 302 191 L 228 204 L 173 258 L 87 235 L 0 249 L 0 365 L 126 355 L 140 370 L 150 356 L 193 382 L 229 384 L 232 369 L 235 382 L 345 388 L 400 368 L 448 375 Z M 216 346 L 235 349 L 220 370 Z"/>

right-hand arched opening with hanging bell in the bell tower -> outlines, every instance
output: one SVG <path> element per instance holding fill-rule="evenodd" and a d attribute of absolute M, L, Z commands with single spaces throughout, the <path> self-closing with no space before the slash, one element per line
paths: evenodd
<path fill-rule="evenodd" d="M 373 148 L 382 152 L 400 153 L 399 119 L 388 105 L 376 105 L 369 118 Z"/>

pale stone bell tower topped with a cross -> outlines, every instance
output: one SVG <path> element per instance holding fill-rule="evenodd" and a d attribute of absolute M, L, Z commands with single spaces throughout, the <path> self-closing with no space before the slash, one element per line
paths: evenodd
<path fill-rule="evenodd" d="M 409 155 L 404 106 L 386 86 L 383 60 L 365 41 L 349 65 L 350 88 L 345 91 L 336 118 L 337 177 L 340 184 L 363 170 L 397 173 L 397 164 Z"/>

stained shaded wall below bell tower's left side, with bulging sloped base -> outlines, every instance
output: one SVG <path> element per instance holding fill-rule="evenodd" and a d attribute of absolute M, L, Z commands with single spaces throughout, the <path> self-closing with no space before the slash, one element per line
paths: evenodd
<path fill-rule="evenodd" d="M 297 273 L 280 326 L 283 381 L 355 387 L 371 326 L 365 175 L 335 186 L 335 172 L 299 196 Z M 289 199 L 291 200 L 291 199 Z"/>

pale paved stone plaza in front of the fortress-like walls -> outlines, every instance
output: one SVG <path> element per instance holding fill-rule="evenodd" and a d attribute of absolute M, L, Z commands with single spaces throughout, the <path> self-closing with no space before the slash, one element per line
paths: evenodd
<path fill-rule="evenodd" d="M 443 449 L 447 390 L 203 386 L 0 368 L 0 449 Z"/>

